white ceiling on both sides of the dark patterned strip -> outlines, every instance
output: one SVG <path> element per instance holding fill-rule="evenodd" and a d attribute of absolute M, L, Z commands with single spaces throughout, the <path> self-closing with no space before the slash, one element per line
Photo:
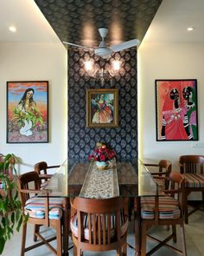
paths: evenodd
<path fill-rule="evenodd" d="M 55 43 L 59 38 L 33 0 L 0 0 L 0 42 Z M 204 42 L 204 0 L 163 0 L 143 42 Z"/>

